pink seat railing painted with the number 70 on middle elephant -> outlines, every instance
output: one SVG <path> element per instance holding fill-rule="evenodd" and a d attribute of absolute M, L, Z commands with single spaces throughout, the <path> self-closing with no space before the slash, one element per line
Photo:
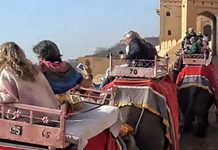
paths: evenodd
<path fill-rule="evenodd" d="M 168 74 L 168 59 L 155 57 L 154 60 L 135 59 L 126 65 L 113 66 L 113 57 L 109 59 L 109 76 L 123 78 L 160 78 Z"/>

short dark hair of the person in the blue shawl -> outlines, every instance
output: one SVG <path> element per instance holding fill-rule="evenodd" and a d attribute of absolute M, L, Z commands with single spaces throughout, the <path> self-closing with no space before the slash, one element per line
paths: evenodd
<path fill-rule="evenodd" d="M 36 53 L 40 58 L 44 59 L 58 59 L 62 56 L 58 46 L 49 40 L 43 40 L 39 42 L 36 46 L 34 46 L 33 52 Z"/>

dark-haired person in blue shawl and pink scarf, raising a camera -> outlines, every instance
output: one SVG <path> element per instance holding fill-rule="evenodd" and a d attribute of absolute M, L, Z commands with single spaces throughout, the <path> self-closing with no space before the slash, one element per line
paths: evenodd
<path fill-rule="evenodd" d="M 90 87 L 92 71 L 84 68 L 85 78 L 69 63 L 62 61 L 57 45 L 49 40 L 39 42 L 33 51 L 38 55 L 41 71 L 48 79 L 55 94 L 65 93 L 76 85 Z"/>

